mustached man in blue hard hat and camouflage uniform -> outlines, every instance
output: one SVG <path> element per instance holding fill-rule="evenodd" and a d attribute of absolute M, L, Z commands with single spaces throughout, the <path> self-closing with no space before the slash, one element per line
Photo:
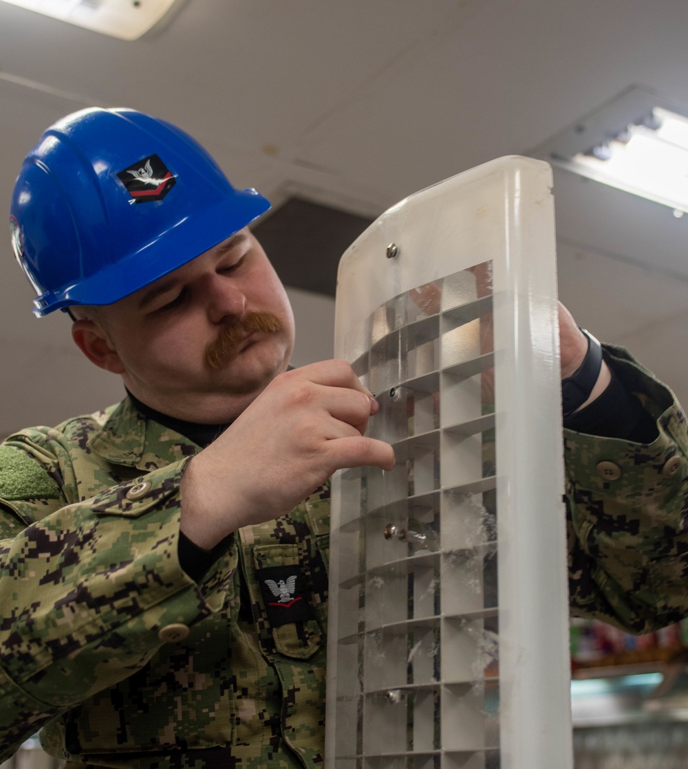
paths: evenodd
<path fill-rule="evenodd" d="M 0 447 L 0 759 L 42 728 L 74 769 L 322 764 L 328 478 L 394 456 L 363 436 L 379 407 L 349 365 L 287 370 L 292 313 L 247 229 L 268 205 L 133 111 L 70 115 L 25 160 L 12 240 L 37 314 L 68 309 L 75 343 L 129 392 Z M 628 447 L 655 440 L 663 411 L 679 419 L 670 394 L 561 321 L 572 426 L 620 388 L 634 421 L 614 457 L 661 471 L 666 435 Z M 617 368 L 645 408 L 610 385 Z M 625 592 L 642 586 L 622 584 L 644 561 L 616 568 L 619 516 L 591 535 L 606 501 L 589 446 L 610 441 L 569 435 L 573 604 L 645 629 L 653 612 Z"/>

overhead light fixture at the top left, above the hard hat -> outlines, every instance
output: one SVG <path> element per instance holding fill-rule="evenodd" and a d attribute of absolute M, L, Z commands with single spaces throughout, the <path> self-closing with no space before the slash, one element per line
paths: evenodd
<path fill-rule="evenodd" d="M 183 0 L 0 0 L 122 40 L 137 40 Z"/>

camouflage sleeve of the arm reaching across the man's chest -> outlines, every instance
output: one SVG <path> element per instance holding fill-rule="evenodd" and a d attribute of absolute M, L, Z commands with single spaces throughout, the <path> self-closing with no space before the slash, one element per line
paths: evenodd
<path fill-rule="evenodd" d="M 0 761 L 219 611 L 237 562 L 226 548 L 198 583 L 180 567 L 185 461 L 65 504 L 38 448 L 0 448 Z"/>

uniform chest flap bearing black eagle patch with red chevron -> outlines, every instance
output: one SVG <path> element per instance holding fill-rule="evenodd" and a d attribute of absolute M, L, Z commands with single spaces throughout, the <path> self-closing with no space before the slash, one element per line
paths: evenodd
<path fill-rule="evenodd" d="M 299 544 L 265 544 L 253 549 L 262 619 L 272 629 L 276 651 L 306 660 L 322 646 L 324 634 L 313 611 L 312 584 Z"/>

